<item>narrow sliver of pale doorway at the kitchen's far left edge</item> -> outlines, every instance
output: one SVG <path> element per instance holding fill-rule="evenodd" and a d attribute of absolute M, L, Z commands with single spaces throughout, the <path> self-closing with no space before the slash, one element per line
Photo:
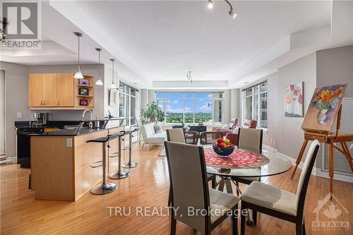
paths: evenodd
<path fill-rule="evenodd" d="M 5 71 L 0 70 L 0 156 L 5 155 Z"/>

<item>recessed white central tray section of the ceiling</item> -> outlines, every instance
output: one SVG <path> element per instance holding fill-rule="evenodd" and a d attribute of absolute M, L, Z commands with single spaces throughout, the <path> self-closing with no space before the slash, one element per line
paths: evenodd
<path fill-rule="evenodd" d="M 232 80 L 292 32 L 330 24 L 330 1 L 77 1 L 149 80 Z"/>

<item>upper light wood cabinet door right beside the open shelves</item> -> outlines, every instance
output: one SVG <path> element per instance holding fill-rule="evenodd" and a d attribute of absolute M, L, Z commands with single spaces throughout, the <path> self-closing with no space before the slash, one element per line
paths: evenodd
<path fill-rule="evenodd" d="M 56 77 L 57 106 L 73 107 L 73 74 L 58 73 Z"/>

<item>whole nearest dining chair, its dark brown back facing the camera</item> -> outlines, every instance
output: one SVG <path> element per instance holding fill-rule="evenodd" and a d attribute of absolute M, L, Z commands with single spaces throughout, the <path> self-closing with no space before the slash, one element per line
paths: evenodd
<path fill-rule="evenodd" d="M 203 147 L 168 141 L 164 147 L 173 188 L 172 207 L 178 208 L 172 213 L 170 234 L 176 234 L 179 221 L 210 235 L 229 214 L 232 234 L 238 234 L 235 215 L 239 198 L 208 188 Z"/>

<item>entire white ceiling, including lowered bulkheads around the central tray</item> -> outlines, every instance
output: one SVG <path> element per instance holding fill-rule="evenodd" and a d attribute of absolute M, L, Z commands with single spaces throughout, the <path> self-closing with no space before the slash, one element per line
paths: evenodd
<path fill-rule="evenodd" d="M 169 81 L 188 83 L 186 72 L 192 71 L 198 84 L 220 80 L 220 87 L 240 88 L 318 49 L 353 42 L 349 35 L 333 43 L 337 1 L 231 2 L 236 20 L 225 1 L 214 1 L 212 10 L 205 0 L 49 1 L 50 11 L 43 16 L 49 22 L 43 20 L 42 32 L 51 44 L 68 50 L 66 59 L 55 55 L 31 61 L 75 63 L 77 42 L 68 35 L 80 30 L 84 63 L 96 60 L 93 48 L 99 45 L 103 63 L 114 56 L 124 71 L 120 76 L 143 87 L 162 89 L 166 81 L 165 88 L 176 88 Z M 61 27 L 52 27 L 56 24 Z"/>

